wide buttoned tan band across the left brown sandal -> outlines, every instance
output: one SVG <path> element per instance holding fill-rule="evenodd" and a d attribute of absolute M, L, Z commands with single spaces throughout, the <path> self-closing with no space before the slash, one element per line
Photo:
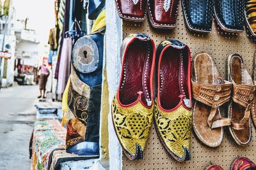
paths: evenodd
<path fill-rule="evenodd" d="M 225 81 L 224 84 L 205 84 L 192 81 L 193 97 L 196 101 L 217 108 L 230 99 L 232 83 Z"/>

